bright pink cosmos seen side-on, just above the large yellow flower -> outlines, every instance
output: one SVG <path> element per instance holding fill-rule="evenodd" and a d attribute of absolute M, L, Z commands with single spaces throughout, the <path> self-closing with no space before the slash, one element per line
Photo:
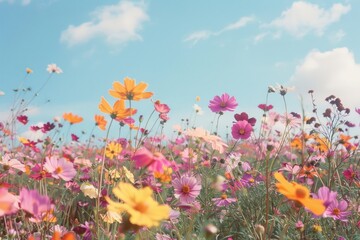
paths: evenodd
<path fill-rule="evenodd" d="M 164 167 L 169 167 L 171 165 L 164 155 L 160 152 L 152 153 L 147 148 L 139 148 L 132 159 L 135 161 L 135 166 L 137 168 L 147 168 L 150 172 L 160 172 L 164 171 Z"/>

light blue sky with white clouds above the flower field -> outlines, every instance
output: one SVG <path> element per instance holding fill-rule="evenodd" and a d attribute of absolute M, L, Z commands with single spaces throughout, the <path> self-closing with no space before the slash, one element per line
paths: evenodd
<path fill-rule="evenodd" d="M 33 123 L 73 112 L 84 117 L 82 128 L 92 126 L 101 96 L 113 102 L 107 92 L 126 76 L 171 107 L 169 128 L 191 115 L 196 96 L 200 123 L 210 122 L 208 102 L 224 92 L 236 97 L 237 112 L 260 117 L 257 105 L 276 83 L 295 87 L 290 111 L 301 112 L 299 95 L 310 103 L 309 89 L 319 104 L 334 94 L 353 110 L 360 107 L 359 12 L 355 0 L 0 0 L 0 120 L 25 69 L 34 73 L 24 86 L 36 90 L 50 63 L 63 73 L 33 102 Z M 280 96 L 269 103 L 284 111 Z M 135 107 L 145 116 L 152 110 L 150 101 Z"/>

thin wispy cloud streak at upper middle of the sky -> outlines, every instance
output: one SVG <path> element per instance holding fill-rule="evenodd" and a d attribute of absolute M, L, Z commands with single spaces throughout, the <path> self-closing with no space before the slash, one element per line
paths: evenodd
<path fill-rule="evenodd" d="M 193 32 L 190 35 L 188 35 L 184 39 L 184 42 L 191 42 L 193 45 L 195 45 L 199 41 L 206 40 L 211 36 L 218 36 L 220 34 L 223 34 L 224 32 L 234 31 L 236 29 L 245 27 L 247 24 L 249 24 L 252 21 L 254 21 L 253 17 L 242 17 L 238 21 L 231 23 L 229 25 L 226 25 L 219 31 L 209 31 L 209 30 L 196 31 L 196 32 Z"/>

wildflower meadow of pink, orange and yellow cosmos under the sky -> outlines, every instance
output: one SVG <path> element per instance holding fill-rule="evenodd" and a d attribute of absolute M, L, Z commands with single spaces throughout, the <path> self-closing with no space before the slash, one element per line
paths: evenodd
<path fill-rule="evenodd" d="M 195 97 L 170 126 L 176 109 L 130 76 L 92 93 L 93 119 L 63 112 L 36 124 L 29 106 L 63 72 L 47 71 L 39 89 L 1 96 L 13 98 L 0 122 L 1 239 L 360 239 L 360 106 L 309 89 L 312 109 L 294 109 L 287 87 L 269 86 L 258 116 L 219 92 L 201 99 L 210 128 Z M 93 128 L 80 138 L 84 121 Z"/>

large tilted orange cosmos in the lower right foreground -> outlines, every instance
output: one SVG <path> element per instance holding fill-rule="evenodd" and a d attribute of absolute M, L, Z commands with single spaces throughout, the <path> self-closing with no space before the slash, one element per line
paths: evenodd
<path fill-rule="evenodd" d="M 296 182 L 288 182 L 281 173 L 274 173 L 274 177 L 279 182 L 276 187 L 279 193 L 285 195 L 288 199 L 299 202 L 316 215 L 325 212 L 324 202 L 320 199 L 310 197 L 310 191 L 305 186 Z"/>

